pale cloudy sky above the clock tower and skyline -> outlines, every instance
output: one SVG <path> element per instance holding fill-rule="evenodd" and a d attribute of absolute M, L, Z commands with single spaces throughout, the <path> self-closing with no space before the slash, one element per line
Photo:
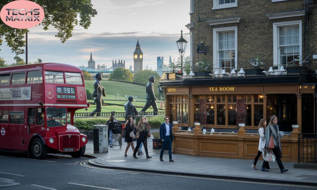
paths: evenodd
<path fill-rule="evenodd" d="M 96 66 L 112 66 L 112 60 L 125 60 L 126 68 L 133 67 L 133 52 L 137 40 L 143 52 L 143 68 L 156 70 L 157 57 L 163 56 L 168 64 L 179 57 L 176 41 L 180 31 L 189 41 L 190 0 L 92 0 L 98 14 L 92 17 L 88 29 L 76 26 L 73 36 L 65 43 L 55 37 L 54 27 L 44 31 L 41 26 L 29 28 L 29 62 L 61 62 L 88 66 L 90 52 Z M 14 53 L 3 40 L 0 57 L 13 63 Z M 190 43 L 185 56 L 190 55 Z M 25 54 L 20 55 L 25 60 Z"/>

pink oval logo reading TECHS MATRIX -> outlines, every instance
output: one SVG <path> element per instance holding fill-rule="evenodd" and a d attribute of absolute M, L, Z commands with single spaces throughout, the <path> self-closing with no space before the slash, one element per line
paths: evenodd
<path fill-rule="evenodd" d="M 44 19 L 44 10 L 32 1 L 17 0 L 3 6 L 1 20 L 12 28 L 32 28 Z"/>

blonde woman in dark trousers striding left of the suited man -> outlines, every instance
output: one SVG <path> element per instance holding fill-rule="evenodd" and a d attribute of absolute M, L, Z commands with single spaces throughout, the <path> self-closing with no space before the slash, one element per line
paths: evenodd
<path fill-rule="evenodd" d="M 137 134 L 135 135 L 135 137 L 137 138 L 137 146 L 134 149 L 133 158 L 138 158 L 136 154 L 138 152 L 141 142 L 144 145 L 146 159 L 152 158 L 152 156 L 149 156 L 149 153 L 147 151 L 147 137 L 150 137 L 151 135 L 150 135 L 150 129 L 146 123 L 147 123 L 146 117 L 142 116 L 137 126 Z"/>

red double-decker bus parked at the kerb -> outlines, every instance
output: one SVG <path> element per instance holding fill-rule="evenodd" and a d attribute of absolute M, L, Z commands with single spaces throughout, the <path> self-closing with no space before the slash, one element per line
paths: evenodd
<path fill-rule="evenodd" d="M 83 74 L 63 63 L 0 69 L 0 149 L 81 157 L 87 136 L 74 127 L 74 113 L 87 107 Z"/>

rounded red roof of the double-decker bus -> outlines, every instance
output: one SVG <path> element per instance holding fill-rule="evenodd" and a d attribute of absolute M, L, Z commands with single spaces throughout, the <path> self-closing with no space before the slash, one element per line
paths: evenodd
<path fill-rule="evenodd" d="M 38 70 L 52 70 L 52 71 L 69 71 L 69 72 L 81 72 L 78 66 L 69 65 L 66 63 L 36 63 L 29 65 L 17 65 L 17 66 L 7 66 L 0 68 L 0 73 L 5 73 L 8 71 L 23 71 L 34 68 Z"/>

